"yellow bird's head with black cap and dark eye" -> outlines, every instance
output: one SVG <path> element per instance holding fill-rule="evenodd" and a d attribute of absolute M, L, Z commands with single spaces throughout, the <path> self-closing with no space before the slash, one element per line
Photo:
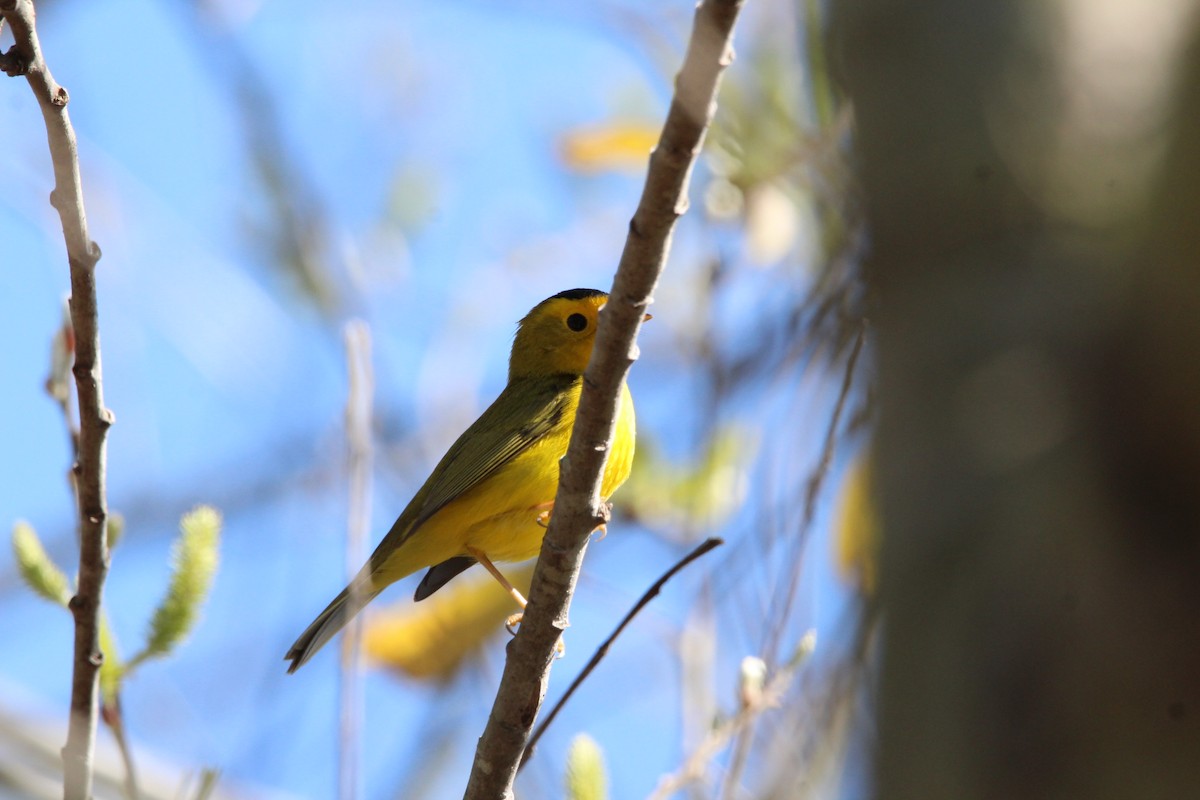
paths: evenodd
<path fill-rule="evenodd" d="M 592 357 L 596 319 L 608 295 L 569 289 L 533 307 L 517 325 L 509 380 L 530 375 L 582 375 Z"/>

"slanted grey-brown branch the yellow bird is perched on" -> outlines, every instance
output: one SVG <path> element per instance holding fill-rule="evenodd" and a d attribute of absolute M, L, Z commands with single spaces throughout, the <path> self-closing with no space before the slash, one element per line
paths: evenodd
<path fill-rule="evenodd" d="M 529 607 L 509 644 L 466 800 L 512 798 L 517 765 L 546 694 L 554 645 L 566 628 L 588 536 L 607 516 L 601 507 L 600 475 L 612 443 L 620 386 L 637 357 L 637 331 L 665 266 L 671 231 L 688 210 L 688 179 L 716 108 L 718 80 L 733 59 L 733 23 L 740 8 L 742 0 L 703 0 L 696 8 L 674 98 L 650 154 L 642 198 L 600 315 Z"/>

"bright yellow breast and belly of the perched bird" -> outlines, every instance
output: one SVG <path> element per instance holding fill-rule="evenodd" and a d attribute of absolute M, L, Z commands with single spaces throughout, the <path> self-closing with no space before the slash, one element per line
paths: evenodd
<path fill-rule="evenodd" d="M 492 561 L 523 561 L 538 555 L 546 534 L 539 516 L 550 509 L 558 492 L 558 463 L 571 438 L 581 385 L 570 390 L 563 425 L 426 521 L 373 576 L 377 585 L 467 555 L 468 547 L 482 551 Z M 629 477 L 635 439 L 634 398 L 623 386 L 612 450 L 600 482 L 605 500 Z"/>

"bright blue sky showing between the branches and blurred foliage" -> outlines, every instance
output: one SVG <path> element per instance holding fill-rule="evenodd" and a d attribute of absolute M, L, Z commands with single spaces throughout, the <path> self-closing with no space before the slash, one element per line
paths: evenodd
<path fill-rule="evenodd" d="M 91 233 L 104 253 L 104 390 L 118 420 L 109 504 L 130 521 L 107 602 L 126 650 L 162 593 L 179 515 L 205 501 L 227 517 L 221 571 L 194 636 L 126 686 L 139 747 L 181 769 L 217 766 L 268 794 L 331 795 L 334 658 L 294 676 L 281 658 L 344 571 L 340 325 L 361 315 L 374 339 L 384 432 L 373 546 L 424 470 L 499 391 L 516 320 L 558 290 L 611 283 L 641 172 L 581 175 L 564 166 L 559 143 L 613 119 L 660 124 L 671 74 L 659 65 L 662 50 L 647 42 L 665 42 L 668 54 L 676 47 L 678 61 L 691 16 L 684 2 L 619 8 L 359 2 L 331 16 L 310 2 L 264 2 L 238 12 L 232 36 L 277 115 L 276 144 L 328 223 L 325 263 L 343 299 L 331 314 L 305 302 L 252 235 L 272 211 L 252 175 L 245 121 L 232 102 L 238 76 L 222 40 L 174 5 L 62 2 L 40 14 L 46 58 L 71 91 Z M 638 23 L 628 24 L 635 13 Z M 764 25 L 762 17 L 744 20 L 743 47 Z M 5 84 L 0 116 L 0 521 L 28 519 L 70 565 L 67 441 L 41 390 L 66 264 L 44 201 L 44 131 L 23 83 Z M 680 361 L 680 341 L 696 324 L 737 336 L 796 279 L 782 267 L 748 267 L 730 282 L 725 311 L 697 321 L 690 282 L 714 248 L 738 247 L 736 231 L 686 217 L 644 330 L 630 383 L 643 431 L 674 458 L 686 458 L 703 433 L 690 402 L 698 378 Z M 721 416 L 751 426 L 822 419 L 836 383 L 766 383 Z M 751 477 L 786 453 L 793 468 L 815 459 L 823 425 L 788 432 L 796 440 L 787 446 L 767 437 Z M 818 529 L 824 519 L 822 504 Z M 821 542 L 805 564 L 792 640 L 842 618 Z M 619 519 L 592 548 L 552 698 L 682 552 Z M 664 687 L 679 680 L 673 643 L 702 571 L 655 601 L 556 723 L 522 778 L 529 796 L 557 793 L 566 742 L 578 730 L 605 747 L 612 796 L 644 795 L 679 763 L 679 704 Z M 410 591 L 404 583 L 380 600 L 407 602 Z M 0 681 L 46 715 L 62 711 L 68 618 L 20 588 L 7 548 L 0 608 Z M 758 644 L 727 625 L 719 627 L 714 675 L 716 687 L 728 687 L 719 697 L 726 706 L 738 661 Z M 502 657 L 498 639 L 442 690 L 368 673 L 366 796 L 394 796 L 420 764 L 433 763 L 420 746 L 442 734 L 449 768 L 426 796 L 461 790 Z"/>

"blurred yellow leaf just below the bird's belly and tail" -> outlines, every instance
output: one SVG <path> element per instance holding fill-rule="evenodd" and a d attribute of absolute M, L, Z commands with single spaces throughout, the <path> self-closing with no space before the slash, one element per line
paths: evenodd
<path fill-rule="evenodd" d="M 528 561 L 502 570 L 528 593 L 533 567 Z M 367 618 L 362 646 L 372 661 L 410 678 L 446 680 L 518 610 L 500 584 L 473 569 L 427 600 L 406 600 Z"/>

